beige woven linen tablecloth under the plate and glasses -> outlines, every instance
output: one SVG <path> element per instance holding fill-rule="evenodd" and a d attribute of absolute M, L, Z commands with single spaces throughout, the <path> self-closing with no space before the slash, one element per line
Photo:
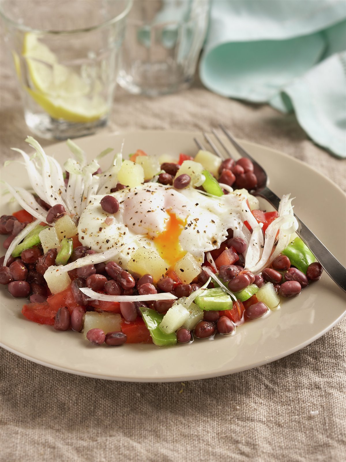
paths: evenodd
<path fill-rule="evenodd" d="M 16 82 L 4 59 L 2 53 L 2 162 L 13 155 L 11 146 L 27 147 L 28 134 Z M 198 83 L 157 99 L 119 92 L 107 130 L 202 130 L 219 122 L 239 138 L 313 165 L 345 189 L 345 161 L 314 146 L 294 116 L 222 98 Z M 345 344 L 344 319 L 284 359 L 185 386 L 78 377 L 2 350 L 0 460 L 346 460 Z"/>

